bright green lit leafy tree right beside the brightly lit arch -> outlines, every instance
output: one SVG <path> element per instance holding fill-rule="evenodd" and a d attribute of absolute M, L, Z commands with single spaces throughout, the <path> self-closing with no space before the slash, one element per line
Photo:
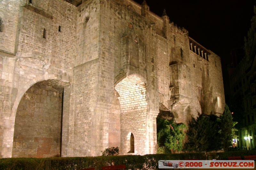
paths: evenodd
<path fill-rule="evenodd" d="M 175 123 L 173 120 L 156 118 L 156 126 L 158 146 L 165 146 L 170 150 L 182 150 L 182 142 L 185 138 L 183 129 L 186 128 L 184 123 Z"/>

